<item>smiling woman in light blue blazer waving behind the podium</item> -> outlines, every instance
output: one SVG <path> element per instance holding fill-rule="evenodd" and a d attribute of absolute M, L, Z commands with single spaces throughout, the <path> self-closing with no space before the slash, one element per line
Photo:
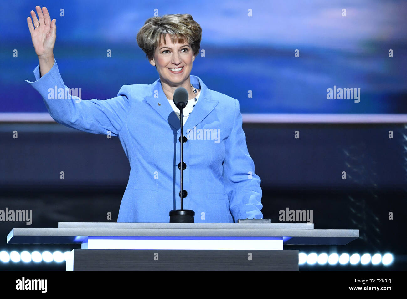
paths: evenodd
<path fill-rule="evenodd" d="M 131 170 L 118 222 L 169 222 L 180 208 L 179 110 L 177 87 L 189 93 L 184 109 L 184 209 L 195 223 L 233 223 L 263 218 L 260 178 L 247 152 L 238 100 L 212 91 L 190 75 L 199 52 L 201 27 L 188 15 L 151 17 L 137 35 L 138 45 L 160 78 L 150 85 L 123 85 L 115 98 L 57 99 L 48 90 L 66 89 L 54 59 L 55 19 L 36 7 L 28 28 L 39 65 L 30 83 L 59 124 L 85 132 L 118 136 Z M 187 112 L 187 113 L 185 113 Z M 185 133 L 184 133 L 185 134 Z"/>

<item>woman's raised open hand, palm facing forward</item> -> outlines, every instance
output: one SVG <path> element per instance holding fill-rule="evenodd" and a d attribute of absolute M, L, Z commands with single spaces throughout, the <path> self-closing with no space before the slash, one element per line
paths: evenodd
<path fill-rule="evenodd" d="M 38 19 L 34 11 L 31 11 L 33 21 L 31 21 L 31 17 L 27 17 L 28 29 L 31 33 L 35 53 L 37 53 L 40 59 L 53 57 L 55 39 L 57 37 L 56 20 L 51 21 L 48 9 L 45 6 L 42 10 L 41 7 L 36 6 L 35 10 L 37 11 Z"/>

